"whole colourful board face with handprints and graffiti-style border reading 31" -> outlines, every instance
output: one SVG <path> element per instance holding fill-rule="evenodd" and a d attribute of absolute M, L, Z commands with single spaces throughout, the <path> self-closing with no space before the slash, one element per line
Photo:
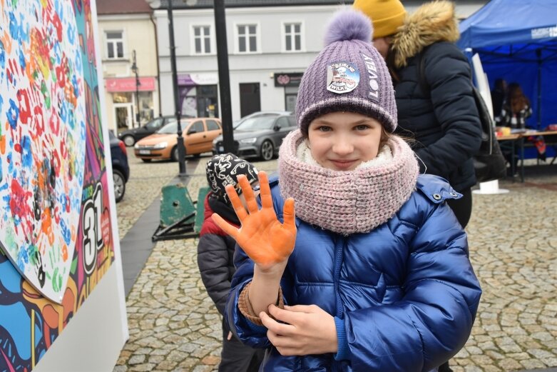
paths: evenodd
<path fill-rule="evenodd" d="M 31 371 L 114 260 L 92 19 L 0 0 L 0 371 Z"/>

